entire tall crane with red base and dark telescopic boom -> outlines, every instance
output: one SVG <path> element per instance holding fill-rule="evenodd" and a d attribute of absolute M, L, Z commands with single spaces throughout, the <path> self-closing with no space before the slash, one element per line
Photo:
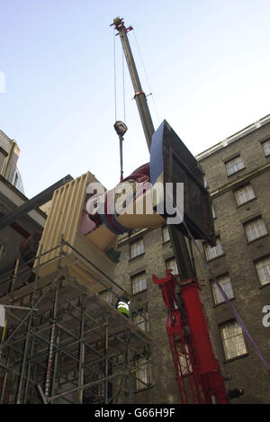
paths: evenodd
<path fill-rule="evenodd" d="M 127 36 L 132 27 L 126 28 L 120 17 L 115 18 L 111 26 L 114 26 L 117 34 L 120 35 L 135 91 L 134 98 L 150 151 L 155 129 Z M 166 304 L 166 331 L 181 401 L 186 404 L 229 403 L 220 366 L 212 350 L 199 295 L 200 285 L 195 277 L 184 235 L 174 225 L 168 226 L 168 229 L 181 282 L 177 281 L 177 277 L 170 270 L 167 270 L 166 277 L 163 279 L 157 279 L 155 274 L 152 278 L 153 283 L 161 289 Z"/>

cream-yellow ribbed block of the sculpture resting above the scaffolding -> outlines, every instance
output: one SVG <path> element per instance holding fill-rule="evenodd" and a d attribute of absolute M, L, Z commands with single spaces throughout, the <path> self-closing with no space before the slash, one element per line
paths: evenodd
<path fill-rule="evenodd" d="M 86 187 L 91 182 L 98 181 L 94 175 L 87 172 L 54 192 L 49 216 L 40 239 L 34 270 L 37 271 L 37 266 L 39 266 L 41 277 L 56 273 L 59 264 L 59 245 L 63 239 L 70 247 L 68 245 L 62 247 L 64 256 L 60 258 L 61 266 L 67 267 L 68 273 L 73 275 L 79 283 L 91 287 L 94 292 L 100 292 L 105 289 L 104 283 L 108 286 L 110 283 L 108 284 L 107 277 L 100 273 L 98 268 L 113 279 L 115 264 L 103 252 L 110 245 L 106 244 L 102 249 L 78 230 L 85 203 Z M 115 238 L 116 236 L 113 235 L 109 244 L 112 244 Z M 38 259 L 40 251 L 41 256 Z"/>

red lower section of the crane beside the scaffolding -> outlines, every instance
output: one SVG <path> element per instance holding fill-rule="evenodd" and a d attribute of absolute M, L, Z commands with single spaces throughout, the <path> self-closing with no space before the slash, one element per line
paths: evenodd
<path fill-rule="evenodd" d="M 203 315 L 199 283 L 197 280 L 178 283 L 171 270 L 166 274 L 163 279 L 157 279 L 155 274 L 152 278 L 160 286 L 166 303 L 166 332 L 182 403 L 228 404 L 224 379 Z"/>

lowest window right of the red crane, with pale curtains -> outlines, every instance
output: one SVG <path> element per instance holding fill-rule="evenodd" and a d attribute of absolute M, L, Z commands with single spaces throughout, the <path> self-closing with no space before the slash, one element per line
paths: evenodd
<path fill-rule="evenodd" d="M 232 359 L 247 353 L 242 328 L 240 328 L 237 321 L 230 321 L 220 326 L 220 333 L 226 359 Z"/>

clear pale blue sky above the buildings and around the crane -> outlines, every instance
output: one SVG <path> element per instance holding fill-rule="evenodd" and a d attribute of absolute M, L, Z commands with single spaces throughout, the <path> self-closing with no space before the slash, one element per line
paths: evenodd
<path fill-rule="evenodd" d="M 119 182 L 114 17 L 134 27 L 155 128 L 166 119 L 195 155 L 269 114 L 269 15 L 269 0 L 0 0 L 0 129 L 21 148 L 26 196 L 87 170 Z M 123 120 L 119 37 L 115 47 Z M 125 66 L 125 176 L 148 162 L 132 97 Z"/>

